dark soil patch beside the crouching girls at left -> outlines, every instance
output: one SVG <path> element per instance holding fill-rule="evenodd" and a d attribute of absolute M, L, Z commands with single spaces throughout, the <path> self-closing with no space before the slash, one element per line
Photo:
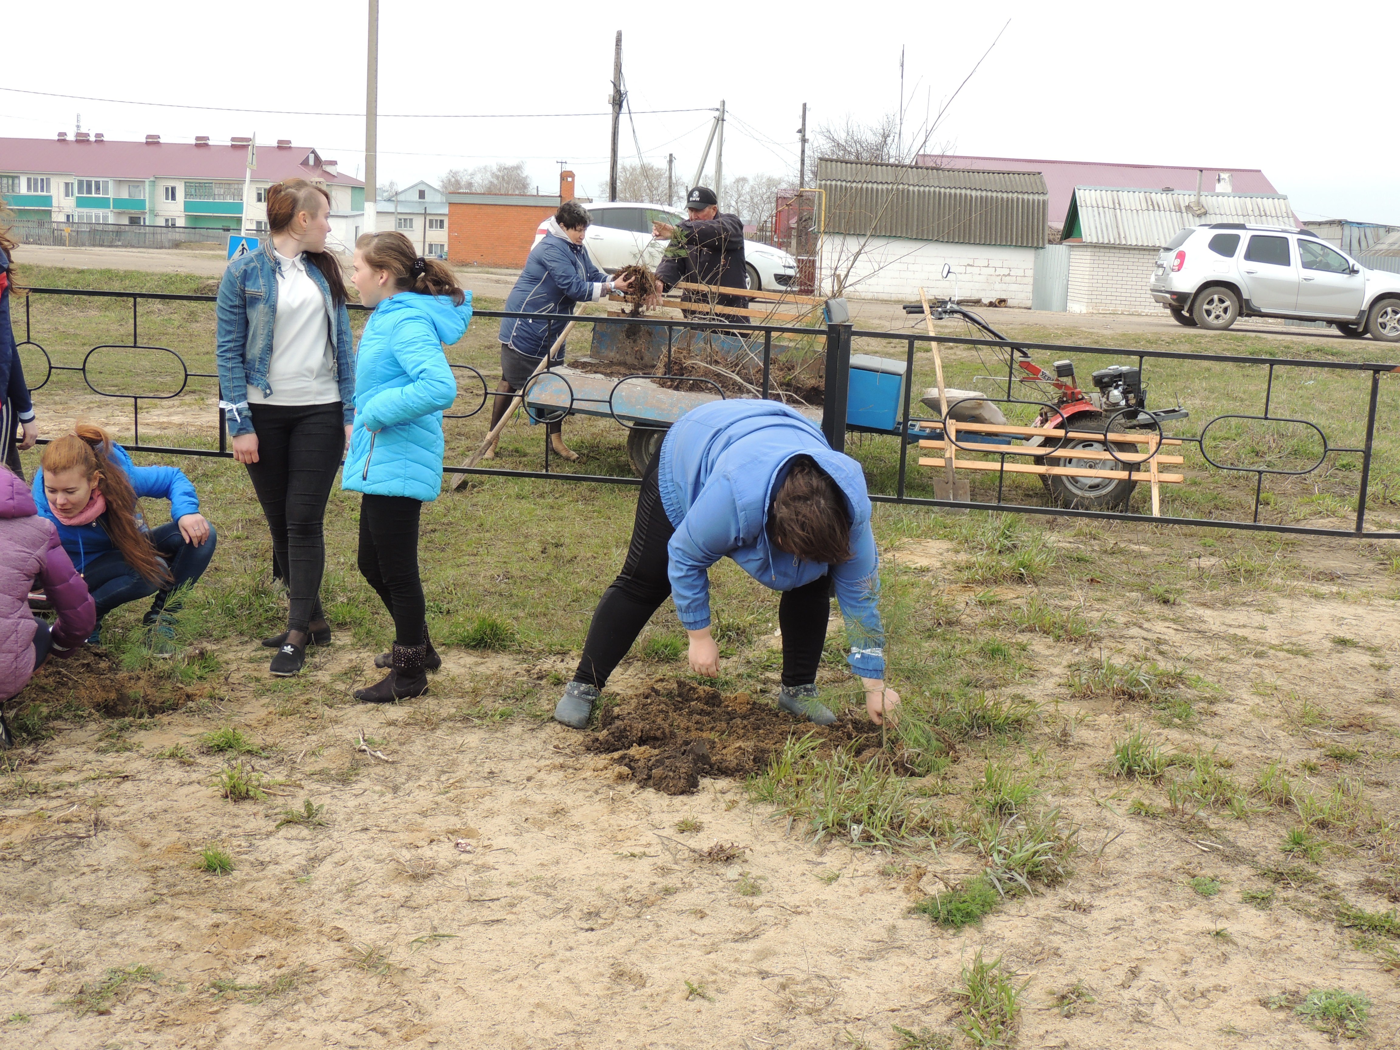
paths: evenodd
<path fill-rule="evenodd" d="M 122 671 L 109 654 L 81 648 L 39 668 L 17 699 L 129 718 L 174 711 L 197 696 L 161 671 Z"/>

